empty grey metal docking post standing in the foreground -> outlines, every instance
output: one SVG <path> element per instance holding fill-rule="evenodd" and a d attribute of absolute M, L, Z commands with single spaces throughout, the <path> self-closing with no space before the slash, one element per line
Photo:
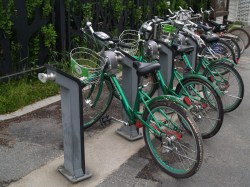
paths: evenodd
<path fill-rule="evenodd" d="M 47 74 L 39 73 L 43 83 L 55 81 L 61 87 L 61 110 L 64 137 L 64 165 L 58 171 L 75 183 L 92 174 L 85 169 L 84 128 L 81 81 L 55 67 L 45 65 Z"/>

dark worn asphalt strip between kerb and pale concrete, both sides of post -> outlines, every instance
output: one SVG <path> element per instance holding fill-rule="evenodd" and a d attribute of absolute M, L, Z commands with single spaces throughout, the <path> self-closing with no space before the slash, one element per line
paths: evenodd
<path fill-rule="evenodd" d="M 122 118 L 121 103 L 113 99 L 106 115 Z M 99 121 L 86 130 L 86 135 L 99 133 L 112 122 Z M 61 122 L 61 103 L 56 102 L 20 117 L 0 123 L 0 145 L 12 146 L 16 141 L 31 142 L 40 145 L 52 145 L 63 149 L 63 131 Z"/>

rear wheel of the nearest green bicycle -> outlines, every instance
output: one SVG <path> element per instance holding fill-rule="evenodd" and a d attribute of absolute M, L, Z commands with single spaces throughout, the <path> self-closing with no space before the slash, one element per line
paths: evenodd
<path fill-rule="evenodd" d="M 203 160 L 202 139 L 198 128 L 186 111 L 167 101 L 155 101 L 145 110 L 143 120 L 158 132 L 154 134 L 148 126 L 143 126 L 146 146 L 160 168 L 175 178 L 188 178 L 200 168 Z M 156 126 L 160 124 L 161 130 Z M 171 130 L 173 123 L 176 130 Z"/>

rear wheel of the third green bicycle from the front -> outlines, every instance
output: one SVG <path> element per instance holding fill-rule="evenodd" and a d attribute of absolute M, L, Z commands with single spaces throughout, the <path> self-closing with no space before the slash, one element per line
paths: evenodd
<path fill-rule="evenodd" d="M 214 84 L 221 90 L 224 112 L 235 110 L 244 97 L 244 83 L 239 72 L 225 63 L 209 65 L 203 73 L 205 77 L 214 76 Z"/>

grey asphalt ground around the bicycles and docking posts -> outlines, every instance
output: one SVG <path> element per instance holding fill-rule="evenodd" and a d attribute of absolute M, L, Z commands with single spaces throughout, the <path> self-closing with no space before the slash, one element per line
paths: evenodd
<path fill-rule="evenodd" d="M 250 49 L 246 50 L 241 58 L 238 70 L 245 83 L 243 103 L 237 110 L 225 115 L 222 129 L 215 137 L 204 141 L 204 162 L 196 175 L 185 180 L 171 178 L 155 166 L 147 150 L 141 148 L 125 163 L 119 158 L 123 164 L 106 178 L 101 178 L 97 183 L 87 185 L 86 182 L 83 182 L 76 186 L 91 186 L 91 184 L 96 186 L 98 183 L 98 186 L 101 187 L 250 186 L 250 122 L 248 120 L 250 111 L 250 77 L 248 75 L 250 72 Z M 119 110 L 119 104 L 114 101 L 113 109 L 109 113 L 114 115 Z M 112 129 L 113 125 L 103 127 L 97 124 L 88 130 L 85 136 L 89 138 L 91 143 L 94 142 L 91 140 L 92 137 L 96 137 L 95 140 L 98 140 L 98 136 L 94 136 L 95 134 L 102 134 L 106 132 L 105 129 L 109 128 Z M 114 136 L 114 134 L 109 136 Z M 59 103 L 22 117 L 0 122 L 0 186 L 7 186 L 13 181 L 17 182 L 12 183 L 11 186 L 71 186 L 55 171 L 56 166 L 63 161 L 62 141 Z M 139 141 L 143 144 L 142 140 Z M 114 151 L 113 155 L 117 151 L 115 148 L 117 142 L 114 141 L 109 150 L 111 153 Z M 138 144 L 126 142 L 126 140 L 124 142 L 123 148 L 127 150 L 133 149 L 134 145 Z M 136 147 L 139 149 L 140 145 Z M 55 160 L 58 157 L 59 159 Z M 97 159 L 102 159 L 101 152 L 97 155 Z M 117 155 L 109 157 L 109 163 L 116 162 L 117 159 Z M 101 162 L 108 161 L 101 160 Z M 54 164 L 53 174 L 56 176 L 43 178 L 39 172 L 51 172 L 51 170 L 48 171 L 48 168 L 46 170 L 47 165 L 51 163 Z M 88 162 L 86 165 L 88 167 Z M 40 168 L 41 166 L 43 167 Z M 98 175 L 96 171 L 98 169 L 97 167 L 92 170 L 92 172 L 95 171 L 93 172 L 94 177 Z M 38 178 L 34 178 L 34 176 Z M 22 177 L 23 179 L 20 180 Z M 33 180 L 31 180 L 32 177 Z M 94 180 L 98 180 L 94 177 Z M 39 185 L 37 181 L 40 181 Z"/>

